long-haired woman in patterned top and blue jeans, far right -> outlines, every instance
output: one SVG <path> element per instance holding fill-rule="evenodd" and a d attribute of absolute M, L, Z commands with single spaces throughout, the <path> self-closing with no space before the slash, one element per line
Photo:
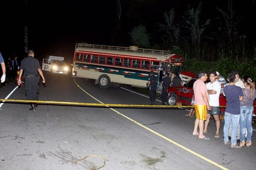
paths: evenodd
<path fill-rule="evenodd" d="M 256 98 L 255 82 L 252 77 L 246 76 L 243 79 L 245 88 L 242 88 L 244 99 L 240 102 L 240 146 L 250 147 L 252 144 L 252 118 L 253 118 L 253 101 Z M 247 128 L 247 139 L 245 142 L 245 132 Z"/>

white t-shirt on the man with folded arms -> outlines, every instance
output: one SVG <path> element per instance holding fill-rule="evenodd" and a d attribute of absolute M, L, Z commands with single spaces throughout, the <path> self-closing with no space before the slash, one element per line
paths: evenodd
<path fill-rule="evenodd" d="M 217 91 L 217 94 L 209 94 L 209 105 L 215 107 L 220 106 L 219 97 L 221 92 L 221 83 L 218 82 L 218 80 L 213 83 L 208 82 L 206 88 L 207 90 Z"/>

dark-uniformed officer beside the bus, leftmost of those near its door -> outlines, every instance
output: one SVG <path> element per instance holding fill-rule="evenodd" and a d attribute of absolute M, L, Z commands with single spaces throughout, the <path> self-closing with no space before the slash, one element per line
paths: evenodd
<path fill-rule="evenodd" d="M 154 71 L 149 72 L 150 77 L 148 79 L 147 85 L 149 88 L 149 98 L 151 100 L 151 105 L 154 105 L 154 101 L 156 99 L 156 91 L 157 91 L 157 77 L 154 76 Z"/>

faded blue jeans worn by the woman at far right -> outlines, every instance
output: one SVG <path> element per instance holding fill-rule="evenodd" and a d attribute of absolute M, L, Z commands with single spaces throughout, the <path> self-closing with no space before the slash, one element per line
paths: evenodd
<path fill-rule="evenodd" d="M 240 106 L 240 141 L 245 139 L 245 131 L 247 128 L 247 141 L 252 140 L 253 136 L 253 106 Z"/>

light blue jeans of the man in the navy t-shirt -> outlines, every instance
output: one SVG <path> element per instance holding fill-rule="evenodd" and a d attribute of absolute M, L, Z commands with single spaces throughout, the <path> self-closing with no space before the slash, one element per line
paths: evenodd
<path fill-rule="evenodd" d="M 232 121 L 232 132 L 231 132 L 231 144 L 236 144 L 236 132 L 239 124 L 240 114 L 230 114 L 225 112 L 224 114 L 224 142 L 228 142 L 228 129 L 230 126 L 230 122 Z"/>

